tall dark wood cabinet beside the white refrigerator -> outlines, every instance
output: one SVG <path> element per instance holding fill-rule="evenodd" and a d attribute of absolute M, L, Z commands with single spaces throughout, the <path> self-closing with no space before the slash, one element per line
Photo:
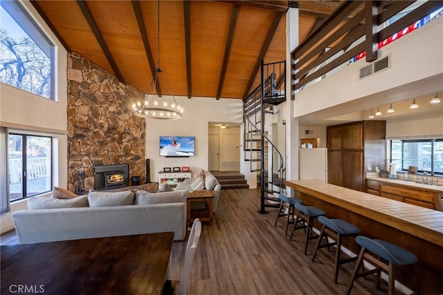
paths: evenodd
<path fill-rule="evenodd" d="M 327 127 L 327 182 L 363 191 L 365 173 L 386 158 L 386 121 L 360 121 Z"/>

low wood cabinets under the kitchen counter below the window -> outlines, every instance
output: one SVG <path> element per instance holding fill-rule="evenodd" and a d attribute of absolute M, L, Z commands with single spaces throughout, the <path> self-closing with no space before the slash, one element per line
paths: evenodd
<path fill-rule="evenodd" d="M 391 200 L 397 200 L 416 206 L 437 209 L 438 193 L 432 188 L 412 187 L 406 184 L 390 182 L 389 180 L 365 179 L 365 192 Z"/>

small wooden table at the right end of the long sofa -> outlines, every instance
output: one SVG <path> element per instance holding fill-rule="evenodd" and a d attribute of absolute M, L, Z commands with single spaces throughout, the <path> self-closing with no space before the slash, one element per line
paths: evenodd
<path fill-rule="evenodd" d="M 206 221 L 211 224 L 213 222 L 213 191 L 202 189 L 199 191 L 188 191 L 188 208 L 187 220 L 188 223 L 199 218 L 200 221 Z M 205 202 L 206 206 L 201 209 L 192 209 L 192 203 Z"/>

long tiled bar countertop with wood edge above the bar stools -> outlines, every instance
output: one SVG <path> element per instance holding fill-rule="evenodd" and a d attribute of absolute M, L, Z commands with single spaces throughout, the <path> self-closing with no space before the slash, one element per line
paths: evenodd
<path fill-rule="evenodd" d="M 319 180 L 287 180 L 286 185 L 443 247 L 443 212 L 380 198 Z"/>

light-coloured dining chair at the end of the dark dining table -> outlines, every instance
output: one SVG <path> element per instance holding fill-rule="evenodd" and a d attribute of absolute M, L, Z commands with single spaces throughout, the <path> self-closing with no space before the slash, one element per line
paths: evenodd
<path fill-rule="evenodd" d="M 199 243 L 201 236 L 201 221 L 197 218 L 192 223 L 191 231 L 186 244 L 185 262 L 181 269 L 180 280 L 166 280 L 163 287 L 163 295 L 166 294 L 178 294 L 186 295 L 186 289 L 188 287 L 188 280 L 191 273 L 192 261 L 194 260 L 195 250 Z"/>

